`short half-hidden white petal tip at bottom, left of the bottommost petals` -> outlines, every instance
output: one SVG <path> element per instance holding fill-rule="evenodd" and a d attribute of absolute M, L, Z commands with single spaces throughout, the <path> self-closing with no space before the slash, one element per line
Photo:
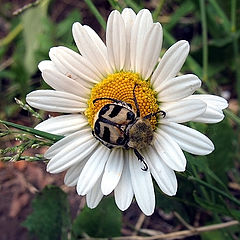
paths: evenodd
<path fill-rule="evenodd" d="M 101 199 L 103 197 L 103 194 L 101 191 L 100 179 L 98 179 L 98 181 L 95 183 L 93 188 L 86 195 L 87 206 L 91 209 L 97 207 L 97 205 L 99 204 L 99 202 L 101 201 Z"/>

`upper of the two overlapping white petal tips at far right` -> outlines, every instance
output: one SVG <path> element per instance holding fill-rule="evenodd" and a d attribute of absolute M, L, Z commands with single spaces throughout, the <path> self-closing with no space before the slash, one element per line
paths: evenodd
<path fill-rule="evenodd" d="M 228 102 L 226 99 L 210 94 L 195 94 L 188 97 L 189 99 L 199 99 L 204 101 L 209 106 L 215 106 L 219 109 L 225 109 L 228 107 Z"/>

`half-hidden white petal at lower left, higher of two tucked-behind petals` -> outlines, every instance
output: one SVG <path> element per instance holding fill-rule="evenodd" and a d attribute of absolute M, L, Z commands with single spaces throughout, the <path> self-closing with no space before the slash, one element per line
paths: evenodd
<path fill-rule="evenodd" d="M 64 183 L 67 186 L 73 187 L 77 185 L 78 178 L 85 164 L 86 161 L 81 161 L 80 163 L 73 165 L 67 170 L 67 173 L 64 177 Z"/>

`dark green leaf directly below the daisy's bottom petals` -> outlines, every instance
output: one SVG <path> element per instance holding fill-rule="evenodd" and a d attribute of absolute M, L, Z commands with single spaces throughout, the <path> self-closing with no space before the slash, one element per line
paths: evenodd
<path fill-rule="evenodd" d="M 85 207 L 74 220 L 72 226 L 73 239 L 78 239 L 83 233 L 91 237 L 120 236 L 122 214 L 116 207 L 113 198 L 101 201 L 95 209 Z"/>

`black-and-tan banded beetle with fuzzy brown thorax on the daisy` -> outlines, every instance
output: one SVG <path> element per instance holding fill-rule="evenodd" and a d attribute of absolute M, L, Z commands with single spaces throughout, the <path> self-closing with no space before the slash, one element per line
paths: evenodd
<path fill-rule="evenodd" d="M 133 88 L 136 112 L 131 104 L 114 98 L 103 97 L 93 100 L 93 104 L 101 100 L 111 100 L 112 103 L 104 105 L 97 112 L 92 133 L 96 139 L 110 149 L 114 147 L 132 148 L 138 160 L 144 165 L 142 170 L 147 171 L 147 163 L 139 150 L 146 148 L 153 140 L 153 129 L 148 119 L 159 113 L 165 117 L 166 113 L 159 110 L 141 117 L 135 95 L 136 87 L 137 84 Z"/>

